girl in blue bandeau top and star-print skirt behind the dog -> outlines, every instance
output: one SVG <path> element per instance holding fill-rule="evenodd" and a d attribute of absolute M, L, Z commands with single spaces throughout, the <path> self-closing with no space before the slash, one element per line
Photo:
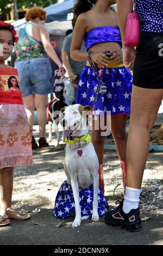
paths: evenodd
<path fill-rule="evenodd" d="M 126 122 L 130 114 L 130 100 L 132 75 L 123 65 L 122 40 L 118 29 L 117 14 L 110 5 L 114 0 L 78 0 L 74 7 L 77 17 L 71 44 L 71 57 L 76 61 L 88 61 L 90 57 L 97 64 L 100 72 L 103 68 L 103 82 L 106 93 L 99 94 L 96 103 L 96 114 L 106 111 L 111 112 L 111 133 L 114 137 L 118 157 L 121 160 L 123 186 L 126 183 Z M 84 40 L 87 52 L 82 52 L 80 47 Z M 104 52 L 111 51 L 112 57 L 107 57 Z M 89 56 L 88 56 L 88 52 Z M 95 100 L 98 80 L 90 63 L 87 62 L 80 76 L 76 103 L 93 105 Z M 102 136 L 100 127 L 101 118 L 93 121 L 92 144 L 95 147 L 99 160 L 99 184 L 103 188 L 103 154 L 105 136 Z"/>

